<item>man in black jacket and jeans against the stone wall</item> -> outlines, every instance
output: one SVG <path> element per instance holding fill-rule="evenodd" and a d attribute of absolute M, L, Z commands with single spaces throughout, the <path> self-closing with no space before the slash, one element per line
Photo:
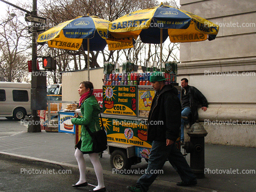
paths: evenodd
<path fill-rule="evenodd" d="M 181 79 L 181 87 L 181 116 L 188 118 L 181 119 L 181 143 L 183 143 L 185 124 L 194 124 L 198 119 L 197 105 L 200 103 L 201 109 L 206 111 L 208 102 L 200 90 L 193 86 L 189 86 L 189 80 L 187 78 Z"/>

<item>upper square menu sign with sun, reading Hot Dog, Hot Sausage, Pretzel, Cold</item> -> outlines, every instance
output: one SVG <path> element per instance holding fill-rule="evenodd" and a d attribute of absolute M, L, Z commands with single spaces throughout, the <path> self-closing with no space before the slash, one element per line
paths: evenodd
<path fill-rule="evenodd" d="M 137 86 L 103 86 L 103 111 L 137 116 Z"/>

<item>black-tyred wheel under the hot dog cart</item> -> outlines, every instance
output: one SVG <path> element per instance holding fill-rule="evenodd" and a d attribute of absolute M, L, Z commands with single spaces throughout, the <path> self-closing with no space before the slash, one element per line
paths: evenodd
<path fill-rule="evenodd" d="M 110 165 L 112 169 L 116 170 L 127 170 L 132 166 L 126 153 L 122 150 L 114 150 L 113 153 L 111 153 Z"/>

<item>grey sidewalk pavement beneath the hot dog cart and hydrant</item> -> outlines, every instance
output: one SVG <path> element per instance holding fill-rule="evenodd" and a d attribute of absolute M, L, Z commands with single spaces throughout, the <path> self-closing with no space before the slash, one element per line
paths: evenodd
<path fill-rule="evenodd" d="M 27 133 L 21 131 L 12 136 L 0 138 L 1 160 L 23 160 L 37 163 L 58 164 L 78 172 L 74 136 L 67 133 Z M 184 150 L 182 149 L 184 153 Z M 88 156 L 88 155 L 87 155 Z M 85 156 L 86 157 L 86 156 Z M 189 163 L 189 155 L 186 160 Z M 110 168 L 109 155 L 105 151 L 102 161 L 104 177 L 124 179 L 135 182 L 140 175 L 117 175 Z M 94 173 L 89 158 L 86 157 L 88 172 Z M 143 161 L 132 166 L 132 169 L 145 169 Z M 180 179 L 170 163 L 165 163 L 164 175 L 159 175 L 152 185 L 162 185 L 168 191 L 256 191 L 256 149 L 247 147 L 205 146 L 205 179 L 198 179 L 198 185 L 193 187 L 176 186 Z M 133 183 L 131 183 L 133 184 Z M 124 189 L 126 191 L 126 189 Z M 149 191 L 152 191 L 151 188 Z"/>

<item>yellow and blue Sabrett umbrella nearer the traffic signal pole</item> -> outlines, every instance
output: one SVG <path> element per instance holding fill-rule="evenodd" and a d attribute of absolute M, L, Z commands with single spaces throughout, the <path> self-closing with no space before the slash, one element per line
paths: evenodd
<path fill-rule="evenodd" d="M 89 51 L 102 51 L 108 43 L 108 50 L 121 50 L 132 48 L 132 39 L 116 42 L 106 39 L 110 21 L 96 16 L 77 17 L 65 21 L 57 26 L 39 34 L 37 42 L 48 42 L 49 47 L 64 50 L 79 50 L 83 45 L 88 51 L 88 80 L 89 80 Z"/>

